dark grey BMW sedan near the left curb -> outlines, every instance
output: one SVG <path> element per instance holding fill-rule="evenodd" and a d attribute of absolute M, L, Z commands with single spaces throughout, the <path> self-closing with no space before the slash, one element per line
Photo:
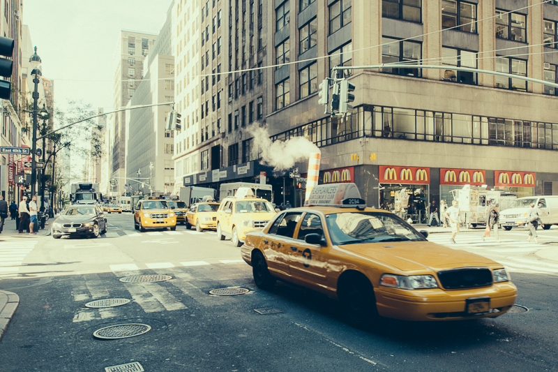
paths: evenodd
<path fill-rule="evenodd" d="M 73 204 L 62 211 L 52 223 L 51 235 L 60 239 L 70 237 L 98 237 L 107 232 L 107 218 L 98 205 Z"/>

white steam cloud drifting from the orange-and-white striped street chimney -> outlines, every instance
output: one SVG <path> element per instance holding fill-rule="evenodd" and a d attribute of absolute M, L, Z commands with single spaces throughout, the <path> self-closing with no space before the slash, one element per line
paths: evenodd
<path fill-rule="evenodd" d="M 294 167 L 296 161 L 307 160 L 313 152 L 319 153 L 318 147 L 305 137 L 294 137 L 287 141 L 272 142 L 265 128 L 252 131 L 254 144 L 262 149 L 262 162 L 280 172 Z"/>

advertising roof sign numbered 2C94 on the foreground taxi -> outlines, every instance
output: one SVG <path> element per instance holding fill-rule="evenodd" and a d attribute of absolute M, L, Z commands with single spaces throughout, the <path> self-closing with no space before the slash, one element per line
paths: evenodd
<path fill-rule="evenodd" d="M 304 205 L 351 206 L 366 204 L 356 184 L 327 184 L 312 188 L 312 193 Z"/>

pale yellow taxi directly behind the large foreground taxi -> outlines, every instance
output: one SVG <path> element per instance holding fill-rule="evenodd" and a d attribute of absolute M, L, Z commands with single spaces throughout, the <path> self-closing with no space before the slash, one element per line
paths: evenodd
<path fill-rule="evenodd" d="M 239 188 L 234 197 L 223 199 L 217 211 L 217 237 L 230 237 L 234 246 L 241 246 L 246 233 L 259 231 L 273 216 L 270 202 L 256 198 L 251 188 Z"/>

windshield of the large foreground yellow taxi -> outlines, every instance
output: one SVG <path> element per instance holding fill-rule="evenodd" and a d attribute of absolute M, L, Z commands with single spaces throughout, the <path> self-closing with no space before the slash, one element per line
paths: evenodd
<path fill-rule="evenodd" d="M 326 216 L 333 244 L 423 241 L 425 238 L 394 214 L 346 212 Z"/>

